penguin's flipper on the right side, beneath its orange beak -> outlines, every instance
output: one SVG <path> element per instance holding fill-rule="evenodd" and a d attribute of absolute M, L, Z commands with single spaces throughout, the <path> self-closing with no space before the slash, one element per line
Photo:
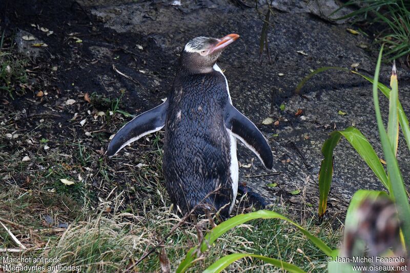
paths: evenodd
<path fill-rule="evenodd" d="M 225 126 L 234 137 L 259 157 L 265 168 L 272 169 L 273 155 L 268 141 L 255 124 L 230 103 L 227 103 L 225 112 Z"/>

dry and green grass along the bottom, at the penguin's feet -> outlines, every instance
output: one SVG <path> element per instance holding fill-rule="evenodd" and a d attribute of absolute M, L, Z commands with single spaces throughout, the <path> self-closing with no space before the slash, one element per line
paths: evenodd
<path fill-rule="evenodd" d="M 35 215 L 43 210 L 48 210 L 49 213 L 68 212 L 67 208 L 64 209 L 63 202 L 46 206 L 42 203 L 42 197 L 34 192 L 16 198 L 24 192 L 18 187 L 3 188 L 1 192 L 2 200 L 5 200 L 2 211 L 6 214 L 1 217 L 8 217 L 10 221 L 16 223 L 12 226 L 12 232 L 23 244 L 32 247 L 25 253 L 26 257 L 58 257 L 60 258 L 58 264 L 61 266 L 81 266 L 81 270 L 89 272 L 116 272 L 129 267 L 160 241 L 162 236 L 171 231 L 173 225 L 180 220 L 170 208 L 165 188 L 159 187 L 141 204 L 130 204 L 128 211 L 121 209 L 121 203 L 126 197 L 125 192 L 101 202 L 95 210 L 91 210 L 90 204 L 87 203 L 72 203 L 73 207 L 69 207 L 71 214 L 61 214 L 73 219 L 69 228 L 64 233 L 47 234 L 41 232 L 45 227 Z M 50 193 L 44 197 L 50 198 L 50 195 L 55 201 L 65 196 Z M 141 205 L 144 210 L 140 209 Z M 241 206 L 243 203 L 238 207 Z M 278 203 L 274 207 L 276 211 L 290 215 L 289 208 L 286 208 L 283 203 Z M 316 219 L 311 216 L 309 210 L 307 208 L 303 209 L 301 214 L 292 214 L 292 218 L 302 219 L 303 226 L 327 244 L 336 246 L 341 234 L 340 230 L 333 230 L 327 222 L 317 225 Z M 9 217 L 9 215 L 18 215 L 18 217 Z M 26 215 L 32 216 L 25 219 Z M 164 249 L 171 261 L 172 270 L 175 270 L 179 262 L 185 258 L 189 247 L 198 243 L 198 226 L 202 233 L 211 227 L 205 219 L 201 219 L 197 226 L 185 224 L 165 242 Z M 15 247 L 13 241 L 3 231 L 0 233 L 0 239 L 3 242 L 2 248 Z M 42 249 L 33 249 L 38 247 Z M 146 272 L 157 271 L 160 268 L 158 252 L 159 250 L 142 261 L 138 269 Z M 210 248 L 206 256 L 202 257 L 202 261 L 191 270 L 203 270 L 223 255 L 242 252 L 281 258 L 297 264 L 306 271 L 320 272 L 325 271 L 326 268 L 326 257 L 292 226 L 279 220 L 254 220 L 223 235 Z M 262 272 L 275 268 L 259 261 L 242 259 L 233 264 L 230 269 Z"/>

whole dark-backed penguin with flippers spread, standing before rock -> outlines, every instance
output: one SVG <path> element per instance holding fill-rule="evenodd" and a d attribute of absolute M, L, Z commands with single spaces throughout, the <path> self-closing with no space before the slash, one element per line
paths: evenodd
<path fill-rule="evenodd" d="M 165 102 L 141 113 L 111 140 L 114 156 L 144 135 L 165 128 L 162 170 L 171 201 L 182 213 L 219 212 L 229 218 L 238 192 L 236 140 L 273 167 L 267 139 L 232 104 L 227 78 L 216 64 L 239 35 L 196 37 L 183 48 Z"/>

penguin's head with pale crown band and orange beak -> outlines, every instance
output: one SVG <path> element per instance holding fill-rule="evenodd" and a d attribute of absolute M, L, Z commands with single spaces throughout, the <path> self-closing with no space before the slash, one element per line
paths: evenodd
<path fill-rule="evenodd" d="M 195 37 L 190 40 L 181 53 L 181 66 L 192 74 L 209 73 L 224 48 L 239 38 L 229 34 L 222 38 Z"/>

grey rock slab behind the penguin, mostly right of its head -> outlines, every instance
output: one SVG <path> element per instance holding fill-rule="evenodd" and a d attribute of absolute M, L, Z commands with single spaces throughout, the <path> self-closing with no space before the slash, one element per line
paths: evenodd
<path fill-rule="evenodd" d="M 296 7 L 289 1 L 284 1 L 289 4 L 287 6 L 282 5 L 283 1 L 274 1 L 274 7 L 286 12 L 275 11 L 271 16 L 274 26 L 269 28 L 268 47 L 272 64 L 268 63 L 266 53 L 260 63 L 259 39 L 267 6 L 259 5 L 255 10 L 235 6 L 234 2 L 221 4 L 203 0 L 194 4 L 181 1 L 178 5 L 173 1 L 106 0 L 82 3 L 104 21 L 107 28 L 152 39 L 156 47 L 148 45 L 145 50 L 151 56 L 149 65 L 154 71 L 161 69 L 160 64 L 156 64 L 158 59 L 169 60 L 170 66 L 175 64 L 178 52 L 192 37 L 238 33 L 241 38 L 223 53 L 219 66 L 226 70 L 233 104 L 269 138 L 275 161 L 273 171 L 279 173 L 269 174 L 263 170 L 254 154 L 239 145 L 239 162 L 247 165 L 255 158 L 251 168 L 240 168 L 239 184 L 262 204 L 274 202 L 277 196 L 297 203 L 304 196 L 316 206 L 321 147 L 330 132 L 354 125 L 383 157 L 374 117 L 372 86 L 352 73 L 329 71 L 309 80 L 302 89 L 302 96 L 295 95 L 294 89 L 310 70 L 322 66 L 350 69 L 354 64 L 361 73 L 371 76 L 376 63 L 375 51 L 370 50 L 371 40 L 347 32 L 346 25 L 334 25 L 312 16 L 310 13 L 319 16 L 323 13 L 323 7 L 318 4 L 303 2 Z M 337 7 L 334 2 L 327 4 L 325 15 Z M 135 44 L 138 42 L 136 40 Z M 99 50 L 99 54 L 104 55 L 104 52 Z M 127 74 L 141 77 L 131 70 Z M 389 74 L 389 67 L 385 65 L 381 81 L 388 83 Z M 401 103 L 410 115 L 410 73 L 403 67 L 399 74 Z M 144 93 L 144 97 L 149 96 L 147 105 L 158 104 L 171 80 L 158 79 L 160 95 Z M 282 103 L 285 107 L 280 110 Z M 381 98 L 381 106 L 388 109 L 384 98 Z M 296 116 L 299 108 L 303 114 Z M 339 115 L 339 110 L 346 115 Z M 279 120 L 279 124 L 262 125 L 267 117 Z M 406 185 L 410 185 L 410 177 L 406 175 L 410 171 L 409 155 L 402 139 L 398 157 Z M 267 186 L 272 183 L 277 186 Z M 345 213 L 356 190 L 382 188 L 360 156 L 342 140 L 335 150 L 329 209 Z M 300 193 L 290 194 L 294 190 Z"/>

